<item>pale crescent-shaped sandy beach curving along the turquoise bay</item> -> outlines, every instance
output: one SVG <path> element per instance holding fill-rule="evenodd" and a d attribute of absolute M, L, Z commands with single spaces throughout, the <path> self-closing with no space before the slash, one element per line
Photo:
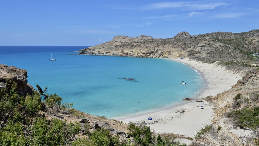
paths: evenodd
<path fill-rule="evenodd" d="M 184 63 L 198 73 L 206 80 L 206 86 L 201 89 L 200 96 L 197 98 L 205 98 L 207 96 L 216 96 L 217 94 L 231 89 L 238 79 L 242 79 L 241 75 L 233 74 L 221 66 L 202 63 L 190 59 L 171 59 Z M 200 106 L 204 106 L 201 109 Z M 194 137 L 196 133 L 206 124 L 210 124 L 213 119 L 213 106 L 204 102 L 185 102 L 185 104 L 174 105 L 172 108 L 158 109 L 157 111 L 141 113 L 134 116 L 119 117 L 116 120 L 125 123 L 142 123 L 146 122 L 150 129 L 157 133 L 174 133 Z M 183 114 L 177 110 L 186 109 Z M 148 120 L 152 117 L 153 120 Z"/>

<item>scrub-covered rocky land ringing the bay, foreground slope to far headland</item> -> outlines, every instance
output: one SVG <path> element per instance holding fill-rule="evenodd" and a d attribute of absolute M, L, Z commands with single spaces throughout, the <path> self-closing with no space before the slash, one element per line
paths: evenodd
<path fill-rule="evenodd" d="M 71 103 L 61 104 L 62 98 L 48 94 L 47 88 L 33 89 L 27 84 L 26 70 L 0 64 L 0 145 L 185 145 L 175 139 L 188 141 L 190 146 L 258 145 L 259 57 L 249 56 L 255 52 L 259 52 L 259 30 L 195 36 L 180 32 L 168 39 L 115 36 L 109 42 L 80 50 L 79 54 L 89 55 L 184 57 L 217 63 L 244 75 L 231 89 L 202 99 L 214 105 L 215 115 L 212 124 L 197 131 L 195 137 L 160 135 L 146 123 L 125 124 L 77 111 Z"/>

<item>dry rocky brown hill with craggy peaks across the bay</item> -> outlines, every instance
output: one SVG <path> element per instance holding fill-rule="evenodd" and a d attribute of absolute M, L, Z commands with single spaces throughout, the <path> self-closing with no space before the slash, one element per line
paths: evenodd
<path fill-rule="evenodd" d="M 231 33 L 214 32 L 191 36 L 180 32 L 173 38 L 160 39 L 115 36 L 111 41 L 84 48 L 79 54 L 114 55 L 150 58 L 179 58 L 213 60 L 248 59 L 248 54 L 259 52 L 259 30 Z"/>

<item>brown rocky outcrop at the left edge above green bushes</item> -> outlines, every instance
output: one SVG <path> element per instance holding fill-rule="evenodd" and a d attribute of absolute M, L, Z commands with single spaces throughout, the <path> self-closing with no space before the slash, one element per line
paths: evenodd
<path fill-rule="evenodd" d="M 17 92 L 21 96 L 32 93 L 33 87 L 27 84 L 27 71 L 13 66 L 0 64 L 0 88 L 6 86 L 6 81 L 17 83 Z"/>

